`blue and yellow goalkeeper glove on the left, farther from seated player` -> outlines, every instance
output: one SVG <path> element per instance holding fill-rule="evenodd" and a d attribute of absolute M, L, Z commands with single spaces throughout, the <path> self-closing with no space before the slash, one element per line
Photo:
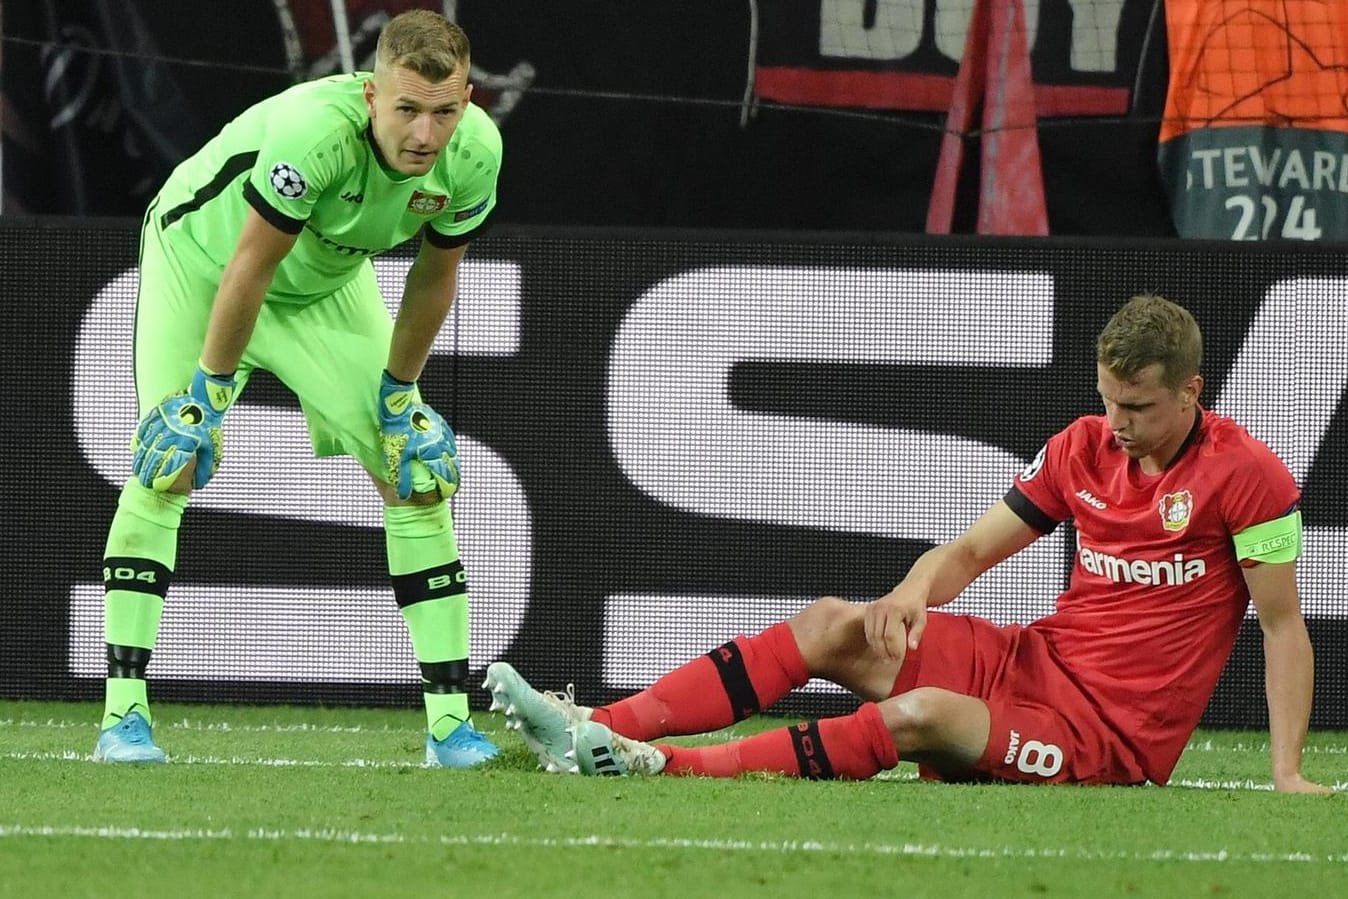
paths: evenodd
<path fill-rule="evenodd" d="M 131 439 L 131 470 L 146 487 L 167 491 L 187 462 L 197 460 L 193 485 L 201 489 L 220 468 L 220 422 L 235 398 L 233 375 L 209 375 L 201 365 L 185 391 L 150 410 Z"/>

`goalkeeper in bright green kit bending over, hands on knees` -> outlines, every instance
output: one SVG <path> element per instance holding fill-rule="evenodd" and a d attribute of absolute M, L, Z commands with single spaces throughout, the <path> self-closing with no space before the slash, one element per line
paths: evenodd
<path fill-rule="evenodd" d="M 500 133 L 469 102 L 469 44 L 415 9 L 384 27 L 373 73 L 290 88 L 243 112 L 146 213 L 136 299 L 140 423 L 104 553 L 106 705 L 94 757 L 163 762 L 146 666 L 193 489 L 255 369 L 295 392 L 317 456 L 353 456 L 384 500 L 394 596 L 426 700 L 426 763 L 497 748 L 468 709 L 468 593 L 446 500 L 454 434 L 417 379 L 458 263 L 496 205 Z M 417 233 L 392 319 L 371 256 Z"/>

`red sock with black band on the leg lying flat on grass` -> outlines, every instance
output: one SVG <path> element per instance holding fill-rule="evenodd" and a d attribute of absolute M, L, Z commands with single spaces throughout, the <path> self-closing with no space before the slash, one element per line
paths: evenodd
<path fill-rule="evenodd" d="M 665 774 L 733 778 L 745 771 L 775 771 L 813 780 L 865 780 L 899 763 L 880 708 L 867 702 L 841 718 L 806 721 L 713 747 L 661 744 Z"/>

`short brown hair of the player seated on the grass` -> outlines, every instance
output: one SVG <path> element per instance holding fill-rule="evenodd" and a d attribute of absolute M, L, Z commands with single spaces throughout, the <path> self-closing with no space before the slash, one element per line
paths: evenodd
<path fill-rule="evenodd" d="M 1202 333 L 1189 310 L 1157 294 L 1139 294 L 1100 332 L 1096 361 L 1128 383 L 1159 364 L 1162 385 L 1174 392 L 1202 368 Z"/>

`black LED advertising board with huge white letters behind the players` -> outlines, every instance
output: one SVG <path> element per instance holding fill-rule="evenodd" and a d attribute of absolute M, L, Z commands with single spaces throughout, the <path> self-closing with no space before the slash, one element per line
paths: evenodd
<path fill-rule="evenodd" d="M 89 607 L 77 613 L 73 597 L 77 589 L 97 592 L 106 522 L 124 477 L 119 466 L 125 464 L 125 434 L 116 422 L 133 400 L 129 369 L 119 361 L 125 341 L 117 330 L 132 315 L 135 237 L 131 222 L 0 220 L 5 260 L 0 302 L 8 315 L 0 337 L 0 423 L 9 447 L 0 456 L 5 483 L 0 563 L 7 571 L 0 589 L 3 695 L 94 698 L 101 691 L 100 632 Z M 710 648 L 708 635 L 728 639 L 745 621 L 789 615 L 820 593 L 865 598 L 884 592 L 926 549 L 923 540 L 902 538 L 922 530 L 915 520 L 895 520 L 890 532 L 828 524 L 828 516 L 857 512 L 837 509 L 828 495 L 802 496 L 802 508 L 810 509 L 805 520 L 782 522 L 755 511 L 764 495 L 780 491 L 778 483 L 749 483 L 735 491 L 737 500 L 714 497 L 729 503 L 724 514 L 679 508 L 663 497 L 706 481 L 741 447 L 698 431 L 696 412 L 679 418 L 687 412 L 682 402 L 665 410 L 666 418 L 700 441 L 701 458 L 658 442 L 655 429 L 646 442 L 642 427 L 613 419 L 631 414 L 615 411 L 617 394 L 640 398 L 666 391 L 678 400 L 679 391 L 705 390 L 697 385 L 697 373 L 709 344 L 696 328 L 708 322 L 690 323 L 696 315 L 659 319 L 651 297 L 671 284 L 702 283 L 701 292 L 683 301 L 690 310 L 724 310 L 718 333 L 771 338 L 790 333 L 801 315 L 828 319 L 829 310 L 847 307 L 867 279 L 880 278 L 894 284 L 892 303 L 882 297 L 864 313 L 852 313 L 861 317 L 851 322 L 849 333 L 902 336 L 922 326 L 905 306 L 907 282 L 925 279 L 938 298 L 948 290 L 948 307 L 958 309 L 969 305 L 968 295 L 957 294 L 962 288 L 954 287 L 960 276 L 981 274 L 989 283 L 1010 284 L 1033 276 L 1030 283 L 1039 288 L 975 297 L 983 317 L 971 319 L 969 328 L 977 328 L 980 337 L 973 330 L 968 340 L 958 333 L 948 337 L 945 361 L 859 359 L 872 344 L 867 337 L 844 337 L 834 345 L 820 344 L 818 359 L 743 359 L 729 368 L 718 396 L 741 412 L 799 422 L 802 430 L 867 426 L 929 439 L 927 449 L 903 464 L 879 460 L 860 472 L 845 468 L 845 445 L 786 443 L 771 450 L 787 470 L 799 461 L 832 481 L 874 484 L 876 495 L 919 495 L 930 489 L 937 472 L 957 473 L 965 465 L 973 470 L 984 450 L 1003 453 L 1004 464 L 987 477 L 941 474 L 938 499 L 931 508 L 917 509 L 915 518 L 957 527 L 960 518 L 979 511 L 973 504 L 983 500 L 971 497 L 1000 496 L 1051 431 L 1097 408 L 1093 337 L 1122 298 L 1142 287 L 1184 301 L 1206 330 L 1208 402 L 1223 396 L 1239 368 L 1243 406 L 1255 411 L 1260 429 L 1275 431 L 1270 439 L 1286 443 L 1282 449 L 1306 465 L 1305 522 L 1312 536 L 1301 565 L 1318 654 L 1313 721 L 1348 725 L 1345 423 L 1336 396 L 1316 394 L 1320 383 L 1344 383 L 1348 329 L 1341 310 L 1348 307 L 1348 284 L 1341 255 L 1332 248 L 501 228 L 474 244 L 468 264 L 465 295 L 449 329 L 450 352 L 433 357 L 423 383 L 461 441 L 476 441 L 504 460 L 523 496 L 518 507 L 497 501 L 504 493 L 481 496 L 496 488 L 489 488 L 485 464 L 474 461 L 484 457 L 468 460 L 457 508 L 461 535 L 472 534 L 473 540 L 465 540 L 465 562 L 477 598 L 474 640 L 492 647 L 473 659 L 474 670 L 499 655 L 541 685 L 574 682 L 585 698 L 615 697 L 623 685 L 658 673 L 650 670 L 656 659 Z M 735 282 L 740 268 L 787 272 L 799 283 L 790 297 L 754 295 Z M 501 275 L 507 270 L 514 279 Z M 484 280 L 479 272 L 491 276 Z M 825 276 L 807 282 L 799 280 L 807 278 L 801 272 Z M 694 274 L 704 280 L 692 279 Z M 785 303 L 772 313 L 779 318 L 740 311 L 763 303 L 774 307 L 778 299 Z M 468 322 L 483 321 L 479 315 L 492 309 L 514 309 L 518 326 L 514 337 L 506 328 L 504 337 L 493 338 L 504 349 L 480 353 L 472 349 L 480 336 L 469 333 Z M 652 309 L 674 352 L 658 364 L 652 356 L 648 368 L 617 365 L 619 350 L 630 349 L 625 341 L 632 340 L 628 326 L 638 311 L 650 318 Z M 998 361 L 1016 354 L 1016 333 L 1026 340 L 1027 326 L 1045 346 L 1042 363 Z M 996 352 L 991 359 L 989 345 Z M 89 396 L 102 399 L 90 408 Z M 226 422 L 225 470 L 208 491 L 214 499 L 204 492 L 189 509 L 179 589 L 168 598 L 171 612 L 175 597 L 185 608 L 191 593 L 200 617 L 189 646 L 171 646 L 182 631 L 166 627 L 156 651 L 162 673 L 155 695 L 417 702 L 415 666 L 388 638 L 399 627 L 392 600 L 373 597 L 387 589 L 377 528 L 275 514 L 287 491 L 301 489 L 294 483 L 245 478 L 237 497 L 229 499 L 235 488 L 225 480 L 228 469 L 260 465 L 284 442 L 275 426 L 249 418 L 255 404 L 294 406 L 283 388 L 263 379 L 249 385 Z M 1287 415 L 1279 423 L 1283 410 Z M 615 443 L 619 431 L 628 441 L 625 462 Z M 90 434 L 104 441 L 101 449 L 90 450 Z M 954 458 L 942 456 L 936 442 L 942 437 L 961 441 Z M 302 454 L 303 446 L 290 450 Z M 654 470 L 644 484 L 631 476 L 634 458 Z M 311 492 L 301 501 L 306 508 L 337 509 L 340 518 L 342 504 L 355 508 L 371 496 L 361 481 L 345 484 L 305 485 Z M 519 526 L 522 520 L 527 527 Z M 1072 546 L 1064 540 L 1057 562 L 1038 581 L 1019 584 L 1019 594 L 1047 602 L 1070 562 Z M 518 592 L 501 596 L 496 581 L 510 571 L 527 577 Z M 243 621 L 231 605 L 286 590 L 310 598 L 266 607 L 267 615 Z M 314 590 L 322 596 L 313 598 Z M 489 600 L 493 592 L 497 598 Z M 745 597 L 752 605 L 693 602 L 706 596 Z M 348 601 L 353 611 L 332 620 L 332 604 Z M 1016 602 L 1004 598 L 995 611 L 1023 616 L 1024 607 Z M 627 611 L 615 613 L 616 608 Z M 376 619 L 388 628 L 376 627 Z M 280 640 L 278 633 L 294 636 Z M 346 652 L 341 647 L 348 644 L 365 648 Z M 191 677 L 164 677 L 185 662 L 194 666 Z M 810 693 L 785 708 L 838 705 L 845 700 L 837 694 Z M 1263 709 L 1260 636 L 1250 619 L 1206 722 L 1255 726 Z"/>

